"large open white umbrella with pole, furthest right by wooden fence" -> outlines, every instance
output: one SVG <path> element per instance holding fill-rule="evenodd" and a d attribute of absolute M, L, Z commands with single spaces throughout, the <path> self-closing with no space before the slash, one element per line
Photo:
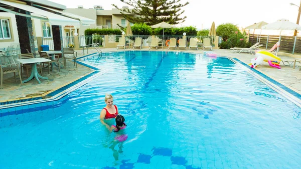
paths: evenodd
<path fill-rule="evenodd" d="M 291 30 L 291 31 L 301 30 L 301 26 L 299 26 L 295 23 L 289 22 L 286 19 L 280 19 L 277 22 L 273 22 L 271 24 L 264 25 L 261 28 L 264 30 L 280 30 L 279 40 L 278 40 L 279 46 L 280 46 L 280 36 L 281 36 L 282 30 Z M 277 48 L 276 56 L 278 54 L 278 51 L 279 51 L 279 47 Z"/>

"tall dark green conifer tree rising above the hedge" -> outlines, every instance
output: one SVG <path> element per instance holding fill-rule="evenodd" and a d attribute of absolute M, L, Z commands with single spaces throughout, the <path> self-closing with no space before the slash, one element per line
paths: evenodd
<path fill-rule="evenodd" d="M 146 25 L 155 25 L 166 22 L 172 25 L 180 24 L 187 18 L 180 16 L 185 12 L 181 8 L 189 3 L 180 4 L 181 0 L 120 0 L 121 2 L 133 7 L 133 9 L 120 9 L 123 18 L 133 24 L 145 23 Z M 131 14 L 131 15 L 129 15 Z M 133 16 L 134 15 L 134 16 Z"/>

